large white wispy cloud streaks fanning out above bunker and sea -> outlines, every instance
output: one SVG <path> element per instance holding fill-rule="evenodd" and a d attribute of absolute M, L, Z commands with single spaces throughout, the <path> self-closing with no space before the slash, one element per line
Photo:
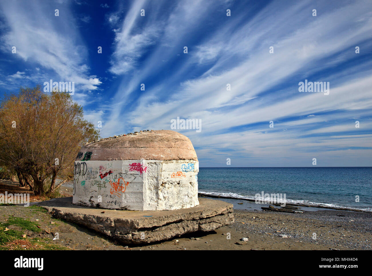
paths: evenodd
<path fill-rule="evenodd" d="M 121 102 L 131 103 L 130 106 L 124 105 L 122 109 L 128 110 L 129 107 L 130 110 L 125 119 L 126 129 L 128 126 L 132 126 L 132 129 L 137 126 L 169 129 L 170 119 L 177 116 L 200 118 L 203 124 L 201 134 L 181 131 L 198 145 L 199 158 L 212 156 L 213 160 L 222 160 L 218 156 L 226 156 L 225 149 L 234 148 L 237 151 L 230 153 L 238 153 L 236 158 L 242 160 L 242 166 L 262 165 L 264 161 L 257 163 L 251 158 L 259 157 L 259 160 L 267 161 L 272 160 L 273 155 L 277 160 L 283 160 L 283 156 L 298 158 L 296 161 L 289 160 L 291 164 L 302 158 L 299 164 L 305 165 L 304 154 L 309 152 L 315 154 L 321 149 L 325 150 L 325 155 L 328 151 L 334 154 L 335 147 L 343 152 L 349 147 L 345 143 L 354 140 L 359 141 L 359 145 L 367 146 L 366 141 L 370 136 L 357 136 L 359 129 L 355 128 L 355 120 L 350 119 L 345 124 L 345 120 L 336 118 L 339 118 L 338 112 L 345 110 L 349 110 L 348 114 L 352 117 L 368 110 L 363 117 L 365 120 L 372 115 L 369 77 L 371 59 L 365 61 L 368 65 L 362 62 L 353 64 L 352 67 L 331 70 L 329 73 L 323 71 L 356 58 L 355 45 L 365 43 L 366 39 L 371 40 L 371 17 L 366 16 L 371 13 L 371 7 L 366 8 L 363 2 L 344 2 L 338 6 L 320 3 L 317 8 L 322 12 L 318 12 L 317 17 L 312 17 L 311 10 L 314 7 L 310 1 L 294 2 L 288 6 L 274 1 L 252 17 L 249 13 L 244 15 L 236 12 L 238 15 L 228 18 L 228 21 L 221 8 L 221 19 L 218 20 L 226 20 L 221 28 L 212 28 L 214 31 L 205 33 L 199 43 L 193 42 L 187 55 L 182 53 L 183 49 L 180 47 L 176 52 L 183 58 L 178 66 L 166 78 L 159 80 L 155 87 L 149 87 L 141 92 L 140 97 L 135 97 L 138 100 L 133 100 L 132 94 L 139 93 L 139 84 L 145 82 L 148 72 L 162 70 L 164 62 L 161 60 L 164 60 L 164 55 L 159 53 L 167 52 L 168 62 L 174 62 L 176 53 L 173 49 L 177 46 L 177 39 L 190 36 L 193 22 L 198 22 L 198 27 L 201 27 L 200 21 L 195 18 L 191 20 L 193 16 L 190 11 L 200 9 L 198 15 L 203 15 L 204 9 L 209 8 L 207 4 L 207 7 L 201 8 L 199 1 L 191 4 L 188 2 L 187 9 L 179 4 L 170 12 L 168 19 L 159 23 L 163 29 L 161 35 L 153 30 L 153 25 L 148 24 L 144 24 L 140 32 L 132 32 L 143 4 L 141 2 L 132 7 L 132 12 L 125 17 L 121 32 L 117 33 L 117 36 L 125 38 L 128 43 L 133 42 L 132 45 L 136 45 L 135 50 L 117 40 L 112 61 L 112 68 L 115 68 L 116 73 L 136 72 L 135 77 L 129 79 L 126 92 L 118 91 L 116 94 Z M 247 20 L 244 20 L 244 16 L 248 17 Z M 186 18 L 190 19 L 188 24 L 175 27 L 182 25 L 177 24 L 176 19 L 182 22 Z M 164 22 L 166 25 L 163 26 Z M 138 31 L 138 28 L 135 30 Z M 156 33 L 157 36 L 148 36 L 149 32 Z M 173 38 L 173 41 L 169 38 Z M 187 44 L 186 41 L 183 43 Z M 156 46 L 147 52 L 146 47 L 154 44 Z M 269 46 L 274 47 L 274 54 L 269 54 Z M 125 55 L 118 58 L 118 53 Z M 142 61 L 143 55 L 146 55 L 146 59 Z M 126 69 L 118 70 L 121 66 Z M 187 74 L 189 77 L 185 78 L 184 74 L 190 70 L 196 70 L 197 73 L 191 76 Z M 349 71 L 348 77 L 341 78 L 340 74 L 346 74 L 346 71 Z M 299 93 L 298 82 L 305 78 L 330 81 L 330 95 Z M 124 77 L 123 80 L 127 82 L 128 78 Z M 231 91 L 227 91 L 227 84 L 231 85 Z M 161 91 L 166 91 L 166 94 Z M 356 112 L 352 112 L 353 110 Z M 308 119 L 300 122 L 301 116 L 308 116 Z M 113 129 L 119 128 L 115 122 L 122 123 L 117 114 L 108 113 L 107 118 L 108 127 L 103 132 L 111 133 Z M 270 120 L 275 122 L 274 129 L 279 128 L 280 131 L 270 132 Z M 279 122 L 286 125 L 286 128 L 282 128 Z M 340 123 L 341 126 L 333 126 Z M 257 128 L 257 124 L 262 127 Z M 305 130 L 309 124 L 313 129 L 307 132 Z M 251 131 L 245 131 L 246 128 Z M 371 133 L 372 126 L 365 123 L 363 130 Z M 320 140 L 311 142 L 317 135 L 323 135 L 327 131 L 354 131 L 356 136 L 337 141 L 323 141 L 320 136 L 316 138 Z M 230 134 L 222 135 L 221 132 Z M 309 137 L 304 137 L 304 134 Z M 242 158 L 247 153 L 250 158 Z M 280 166 L 281 161 L 270 162 Z M 214 161 L 214 165 L 216 164 L 223 166 L 224 162 Z"/>

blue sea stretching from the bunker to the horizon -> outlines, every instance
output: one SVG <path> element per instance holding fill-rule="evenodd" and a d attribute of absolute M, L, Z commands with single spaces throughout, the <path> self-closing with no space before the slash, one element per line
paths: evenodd
<path fill-rule="evenodd" d="M 285 193 L 286 203 L 372 212 L 372 167 L 199 168 L 198 188 L 241 199 Z"/>

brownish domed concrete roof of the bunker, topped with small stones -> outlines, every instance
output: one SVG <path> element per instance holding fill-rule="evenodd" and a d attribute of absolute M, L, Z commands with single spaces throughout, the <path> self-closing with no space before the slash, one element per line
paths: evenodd
<path fill-rule="evenodd" d="M 195 149 L 185 135 L 171 130 L 143 131 L 84 145 L 81 160 L 195 160 Z"/>

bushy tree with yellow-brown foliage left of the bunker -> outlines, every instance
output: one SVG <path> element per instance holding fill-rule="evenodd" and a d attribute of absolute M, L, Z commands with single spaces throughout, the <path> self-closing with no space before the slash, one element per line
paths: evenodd
<path fill-rule="evenodd" d="M 21 88 L 0 105 L 0 161 L 17 172 L 35 195 L 52 193 L 73 175 L 81 146 L 99 138 L 67 92 Z M 55 181 L 63 177 L 57 186 Z"/>

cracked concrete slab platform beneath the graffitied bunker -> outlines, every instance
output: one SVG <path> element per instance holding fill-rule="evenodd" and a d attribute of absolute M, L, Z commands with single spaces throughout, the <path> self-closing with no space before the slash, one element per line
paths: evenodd
<path fill-rule="evenodd" d="M 234 222 L 232 204 L 199 198 L 193 208 L 171 211 L 124 211 L 72 204 L 72 197 L 38 204 L 65 219 L 126 244 L 154 243 L 196 231 L 212 231 Z"/>

